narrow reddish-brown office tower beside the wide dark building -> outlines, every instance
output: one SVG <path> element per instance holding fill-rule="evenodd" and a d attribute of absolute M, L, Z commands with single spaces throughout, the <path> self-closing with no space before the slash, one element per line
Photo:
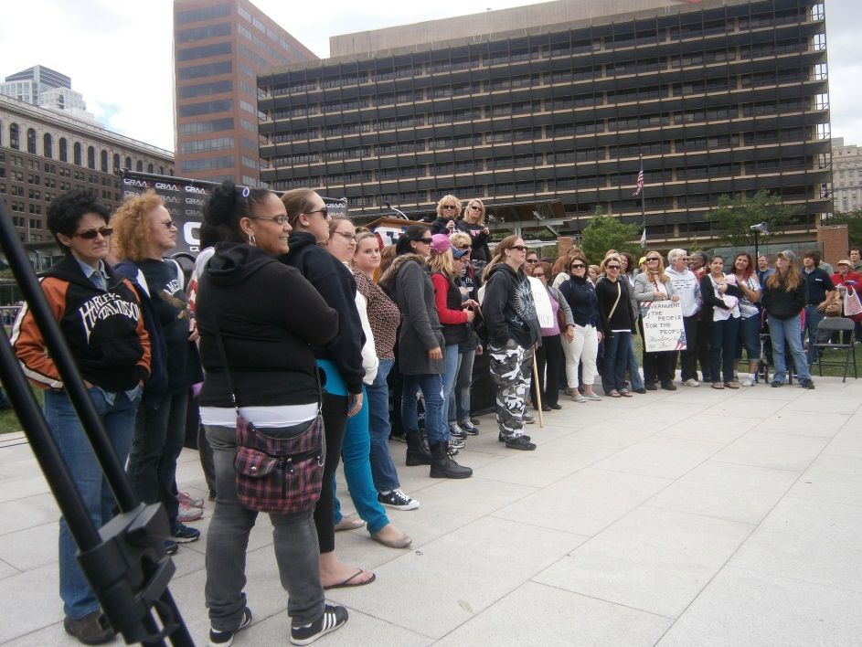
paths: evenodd
<path fill-rule="evenodd" d="M 175 0 L 177 175 L 258 186 L 257 75 L 316 59 L 247 0 Z"/>

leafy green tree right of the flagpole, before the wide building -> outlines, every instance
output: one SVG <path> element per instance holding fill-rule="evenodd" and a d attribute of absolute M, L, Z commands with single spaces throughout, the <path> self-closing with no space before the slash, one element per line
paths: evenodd
<path fill-rule="evenodd" d="M 707 214 L 707 219 L 718 225 L 723 244 L 746 247 L 754 244 L 754 236 L 751 233 L 753 225 L 766 223 L 769 233 L 760 235 L 762 245 L 773 234 L 793 224 L 796 216 L 795 207 L 784 205 L 779 196 L 761 190 L 748 200 L 743 200 L 742 196 L 720 196 L 718 207 Z"/>

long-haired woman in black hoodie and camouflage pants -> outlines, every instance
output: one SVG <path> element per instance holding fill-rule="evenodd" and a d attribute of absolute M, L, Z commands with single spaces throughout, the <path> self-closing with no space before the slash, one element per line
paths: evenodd
<path fill-rule="evenodd" d="M 540 329 L 533 291 L 524 273 L 526 258 L 527 246 L 519 236 L 507 236 L 497 244 L 484 268 L 482 313 L 488 330 L 491 379 L 497 387 L 498 440 L 513 450 L 532 451 L 536 445 L 524 434 L 524 418 Z"/>

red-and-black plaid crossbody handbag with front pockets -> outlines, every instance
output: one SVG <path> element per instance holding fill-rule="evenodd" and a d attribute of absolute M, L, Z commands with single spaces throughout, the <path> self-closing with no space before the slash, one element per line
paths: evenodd
<path fill-rule="evenodd" d="M 317 415 L 300 433 L 287 438 L 261 432 L 239 412 L 221 331 L 216 340 L 231 403 L 237 410 L 237 455 L 234 458 L 237 498 L 249 510 L 269 514 L 295 514 L 314 508 L 324 477 L 324 423 L 320 374 L 317 376 Z"/>

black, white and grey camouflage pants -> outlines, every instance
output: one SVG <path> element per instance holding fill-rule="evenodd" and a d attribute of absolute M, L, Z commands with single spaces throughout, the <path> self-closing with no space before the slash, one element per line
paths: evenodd
<path fill-rule="evenodd" d="M 488 353 L 491 355 L 491 379 L 497 387 L 497 425 L 504 436 L 520 436 L 527 412 L 533 349 L 509 340 L 505 346 L 488 345 Z"/>

